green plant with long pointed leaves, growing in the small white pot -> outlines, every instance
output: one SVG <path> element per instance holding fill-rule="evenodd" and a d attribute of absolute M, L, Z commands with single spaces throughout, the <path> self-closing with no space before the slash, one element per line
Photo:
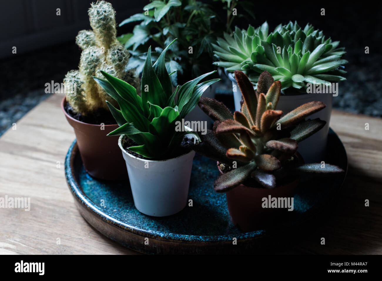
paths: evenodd
<path fill-rule="evenodd" d="M 211 84 L 220 80 L 199 83 L 215 72 L 211 71 L 181 87 L 177 86 L 173 91 L 170 75 L 165 67 L 165 54 L 170 45 L 162 51 L 154 65 L 151 62 L 149 47 L 142 72 L 141 96 L 133 86 L 104 71 L 101 73 L 106 80 L 94 77 L 120 107 L 119 110 L 107 102 L 113 117 L 120 125 L 108 135 L 127 135 L 137 143 L 128 149 L 146 158 L 163 158 L 176 154 L 186 134 L 193 133 L 198 136 L 195 132 L 177 131 L 176 122 L 180 122 L 194 109 L 203 92 Z M 176 94 L 178 100 L 175 103 Z"/>

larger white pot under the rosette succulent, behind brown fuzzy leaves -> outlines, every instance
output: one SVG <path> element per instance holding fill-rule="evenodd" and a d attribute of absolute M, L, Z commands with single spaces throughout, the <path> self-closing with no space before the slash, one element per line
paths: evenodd
<path fill-rule="evenodd" d="M 225 70 L 226 75 L 232 81 L 233 99 L 235 110 L 240 111 L 241 92 L 233 73 Z M 306 163 L 321 162 L 325 155 L 326 142 L 329 132 L 330 115 L 332 114 L 333 95 L 332 94 L 299 94 L 295 96 L 280 96 L 277 110 L 282 110 L 283 115 L 301 106 L 306 102 L 322 101 L 326 107 L 319 112 L 312 114 L 308 119 L 319 118 L 326 121 L 324 128 L 298 144 L 298 152 L 303 156 Z"/>

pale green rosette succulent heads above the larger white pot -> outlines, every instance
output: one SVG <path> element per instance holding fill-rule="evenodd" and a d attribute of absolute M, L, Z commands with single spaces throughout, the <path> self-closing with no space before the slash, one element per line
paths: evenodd
<path fill-rule="evenodd" d="M 215 65 L 227 71 L 242 70 L 256 84 L 259 74 L 268 71 L 274 80 L 288 88 L 306 89 L 306 83 L 328 84 L 345 80 L 341 59 L 345 48 L 338 47 L 339 41 L 325 38 L 322 31 L 310 24 L 302 29 L 297 22 L 279 24 L 269 32 L 267 22 L 258 28 L 249 25 L 247 30 L 235 28 L 232 36 L 213 44 Z"/>

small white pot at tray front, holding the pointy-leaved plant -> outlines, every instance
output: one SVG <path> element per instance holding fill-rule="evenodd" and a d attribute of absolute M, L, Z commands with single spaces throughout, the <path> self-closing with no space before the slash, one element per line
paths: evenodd
<path fill-rule="evenodd" d="M 187 204 L 188 187 L 194 151 L 176 158 L 153 161 L 129 154 L 122 146 L 129 175 L 134 205 L 149 216 L 170 216 L 183 210 Z"/>

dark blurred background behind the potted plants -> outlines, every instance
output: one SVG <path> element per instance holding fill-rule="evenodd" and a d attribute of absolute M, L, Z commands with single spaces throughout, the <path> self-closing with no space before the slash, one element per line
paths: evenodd
<path fill-rule="evenodd" d="M 13 0 L 3 3 L 0 34 L 0 135 L 32 107 L 50 94 L 45 83 L 62 82 L 66 72 L 78 68 L 81 50 L 75 36 L 90 29 L 87 9 L 90 0 Z M 117 23 L 142 11 L 148 1 L 113 1 Z M 203 1 L 221 8 L 220 2 Z M 382 117 L 381 15 L 382 5 L 371 2 L 274 2 L 256 1 L 254 27 L 265 20 L 273 30 L 279 23 L 297 20 L 300 26 L 311 23 L 325 36 L 341 41 L 348 73 L 339 84 L 333 106 L 353 113 Z M 56 16 L 56 8 L 61 16 Z M 325 8 L 325 16 L 321 16 Z M 222 18 L 225 11 L 221 10 Z M 238 13 L 240 13 L 238 8 Z M 248 21 L 236 21 L 241 28 Z M 118 35 L 131 32 L 134 24 L 117 28 Z M 12 54 L 12 47 L 17 54 Z M 368 46 L 370 54 L 365 54 Z"/>

